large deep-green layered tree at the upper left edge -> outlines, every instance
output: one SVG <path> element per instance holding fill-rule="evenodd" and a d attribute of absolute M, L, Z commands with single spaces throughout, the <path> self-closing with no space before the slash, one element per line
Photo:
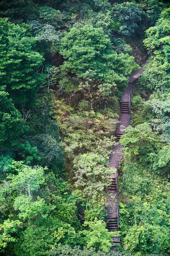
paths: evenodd
<path fill-rule="evenodd" d="M 38 72 L 43 63 L 37 52 L 36 39 L 27 36 L 27 29 L 0 19 L 0 79 L 14 102 L 31 103 L 43 81 Z"/>

